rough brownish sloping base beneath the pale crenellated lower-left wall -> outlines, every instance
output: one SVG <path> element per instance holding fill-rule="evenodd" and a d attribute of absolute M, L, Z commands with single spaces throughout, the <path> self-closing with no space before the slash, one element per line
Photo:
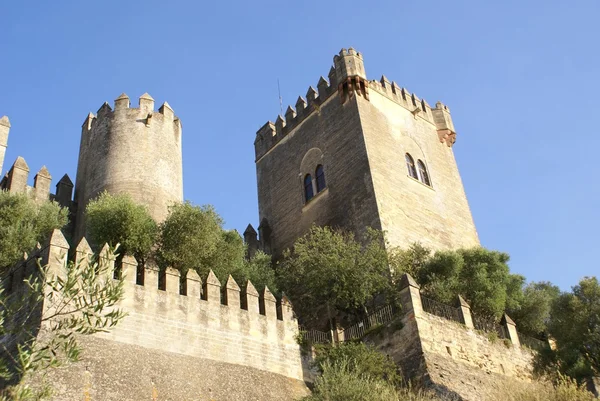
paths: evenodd
<path fill-rule="evenodd" d="M 82 339 L 81 361 L 50 371 L 53 401 L 287 401 L 308 394 L 301 380 L 98 337 Z M 210 346 L 207 344 L 207 346 Z M 87 372 L 86 372 L 87 369 Z M 29 378 L 39 383 L 38 377 Z"/>

